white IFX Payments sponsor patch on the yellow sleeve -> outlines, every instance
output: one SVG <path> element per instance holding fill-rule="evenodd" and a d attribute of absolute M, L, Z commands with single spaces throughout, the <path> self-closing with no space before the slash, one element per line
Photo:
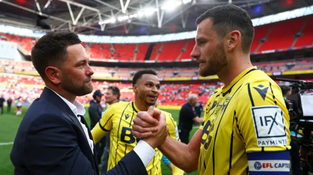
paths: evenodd
<path fill-rule="evenodd" d="M 288 144 L 284 115 L 279 106 L 251 107 L 251 114 L 259 147 Z"/>

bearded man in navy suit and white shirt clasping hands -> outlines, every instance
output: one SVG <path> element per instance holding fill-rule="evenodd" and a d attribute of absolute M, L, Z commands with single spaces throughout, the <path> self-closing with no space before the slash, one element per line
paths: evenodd
<path fill-rule="evenodd" d="M 93 71 L 81 40 L 70 31 L 50 32 L 38 40 L 31 55 L 46 87 L 29 107 L 15 137 L 14 174 L 99 175 L 93 139 L 83 117 L 86 111 L 75 100 L 93 90 Z M 159 122 L 156 130 L 153 139 L 140 140 L 106 175 L 148 175 L 145 166 L 167 136 L 166 123 Z"/>

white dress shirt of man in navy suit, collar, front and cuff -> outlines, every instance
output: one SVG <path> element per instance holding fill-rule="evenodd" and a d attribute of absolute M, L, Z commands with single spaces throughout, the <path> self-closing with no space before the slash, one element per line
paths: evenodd
<path fill-rule="evenodd" d="M 53 90 L 51 89 L 51 91 L 53 91 Z M 90 149 L 93 153 L 93 146 L 94 146 L 93 140 L 91 140 L 89 137 L 87 127 L 81 122 L 80 117 L 78 117 L 78 115 L 80 115 L 80 116 L 85 115 L 86 110 L 85 110 L 84 106 L 79 101 L 77 101 L 76 99 L 75 99 L 74 104 L 72 104 L 71 102 L 69 102 L 64 97 L 61 97 L 58 93 L 56 93 L 56 92 L 54 92 L 54 93 L 57 94 L 60 98 L 62 98 L 67 103 L 69 108 L 73 111 L 75 116 L 78 118 L 78 121 L 80 122 L 80 124 L 82 125 L 82 127 L 84 129 L 85 135 L 86 135 L 88 142 L 89 142 Z M 145 167 L 148 166 L 148 164 L 151 162 L 153 157 L 156 155 L 156 151 L 147 142 L 145 142 L 143 140 L 140 140 L 137 143 L 137 145 L 134 147 L 134 152 L 138 155 L 138 157 L 140 158 L 140 160 L 142 161 L 142 163 L 144 164 Z"/>

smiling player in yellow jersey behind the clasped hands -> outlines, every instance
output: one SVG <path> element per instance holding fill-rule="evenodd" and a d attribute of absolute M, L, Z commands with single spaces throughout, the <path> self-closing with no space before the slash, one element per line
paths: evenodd
<path fill-rule="evenodd" d="M 138 71 L 133 78 L 133 90 L 135 100 L 130 102 L 119 101 L 112 104 L 105 111 L 101 120 L 92 129 L 91 134 L 94 143 L 110 132 L 110 156 L 108 171 L 117 165 L 127 153 L 132 151 L 139 139 L 132 135 L 133 118 L 139 111 L 148 111 L 149 107 L 154 106 L 160 93 L 160 82 L 156 72 L 152 70 Z M 166 124 L 169 129 L 168 135 L 179 140 L 176 122 L 170 113 L 164 112 Z M 156 149 L 156 156 L 146 167 L 150 175 L 161 175 L 162 153 Z M 183 171 L 173 168 L 173 174 L 183 175 Z"/>

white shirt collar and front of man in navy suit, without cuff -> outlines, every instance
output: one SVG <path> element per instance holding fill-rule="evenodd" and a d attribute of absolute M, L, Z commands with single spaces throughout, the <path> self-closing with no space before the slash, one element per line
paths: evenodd
<path fill-rule="evenodd" d="M 50 90 L 53 91 L 52 89 L 50 89 Z M 87 138 L 87 140 L 89 142 L 89 146 L 90 146 L 91 152 L 93 154 L 93 140 L 90 139 L 87 127 L 84 125 L 84 123 L 82 123 L 81 118 L 78 116 L 78 115 L 80 115 L 80 116 L 84 116 L 85 115 L 86 110 L 85 110 L 84 106 L 79 101 L 77 101 L 76 99 L 75 99 L 74 104 L 73 104 L 73 103 L 69 102 L 67 99 L 65 99 L 64 97 L 60 96 L 58 93 L 56 93 L 56 92 L 54 92 L 54 93 L 56 95 L 58 95 L 61 99 L 63 99 L 64 102 L 67 103 L 68 107 L 73 111 L 73 113 L 77 117 L 78 121 L 80 122 L 80 125 L 82 126 L 82 128 L 84 130 L 86 138 Z"/>

